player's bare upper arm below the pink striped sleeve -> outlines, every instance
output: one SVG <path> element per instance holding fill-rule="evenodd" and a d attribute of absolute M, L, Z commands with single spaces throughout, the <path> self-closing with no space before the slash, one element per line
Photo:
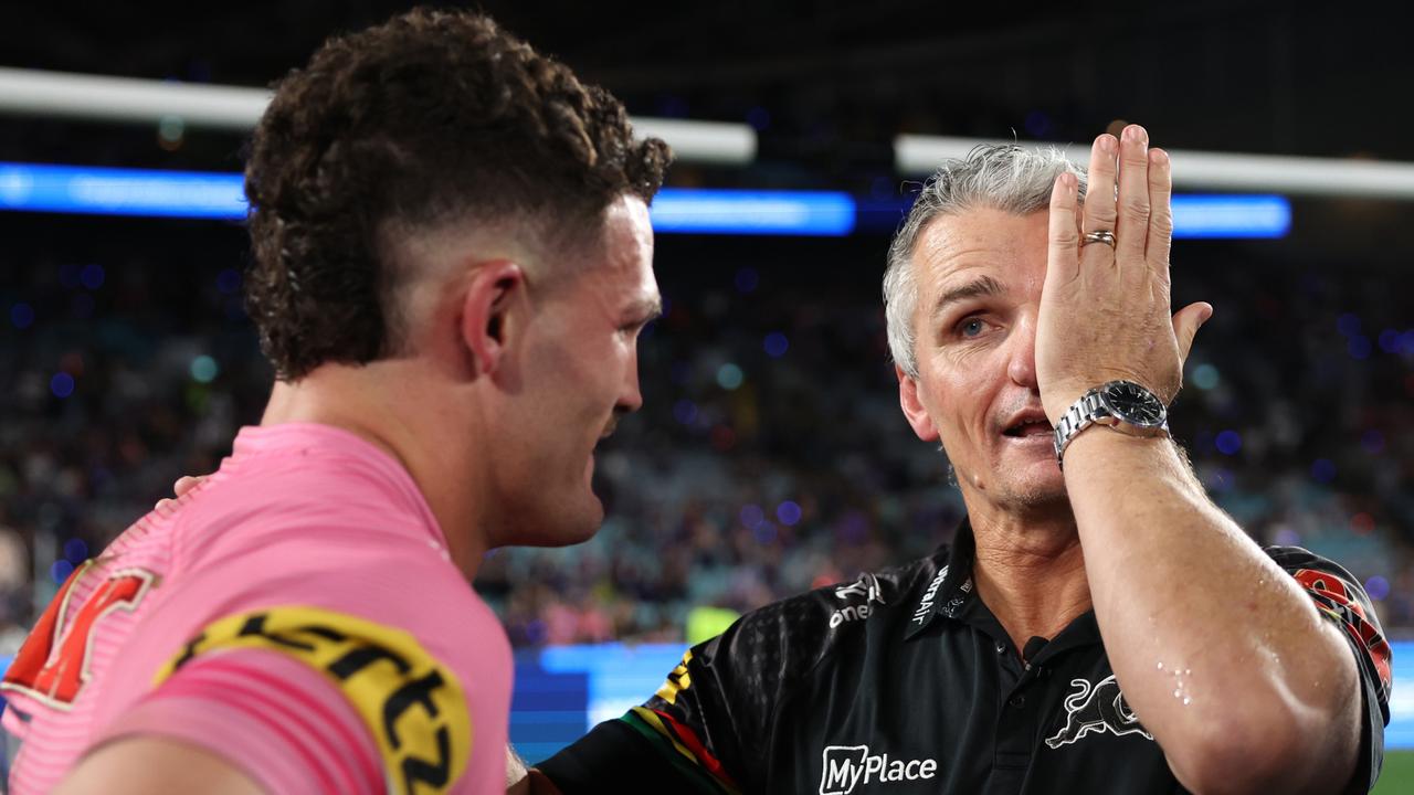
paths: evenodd
<path fill-rule="evenodd" d="M 83 757 L 54 792 L 262 795 L 264 789 L 211 751 L 160 737 L 126 737 Z"/>

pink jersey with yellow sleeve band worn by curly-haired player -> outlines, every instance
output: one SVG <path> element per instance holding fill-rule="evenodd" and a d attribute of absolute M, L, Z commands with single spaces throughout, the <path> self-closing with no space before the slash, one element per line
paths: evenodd
<path fill-rule="evenodd" d="M 133 734 L 199 745 L 270 792 L 499 792 L 510 672 L 393 458 L 334 427 L 247 427 L 30 634 L 3 685 L 10 792 L 48 792 Z"/>

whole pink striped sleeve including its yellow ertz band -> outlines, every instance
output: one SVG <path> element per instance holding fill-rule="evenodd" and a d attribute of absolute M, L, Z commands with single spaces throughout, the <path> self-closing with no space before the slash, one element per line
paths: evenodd
<path fill-rule="evenodd" d="M 153 671 L 144 663 L 134 673 L 141 669 Z M 277 794 L 434 795 L 485 791 L 489 781 L 499 788 L 505 730 L 474 734 L 462 682 L 400 627 L 270 605 L 191 635 L 146 675 L 141 700 L 107 719 L 99 740 L 189 741 Z M 505 706 L 493 712 L 503 727 Z M 474 740 L 479 761 L 468 777 Z"/>

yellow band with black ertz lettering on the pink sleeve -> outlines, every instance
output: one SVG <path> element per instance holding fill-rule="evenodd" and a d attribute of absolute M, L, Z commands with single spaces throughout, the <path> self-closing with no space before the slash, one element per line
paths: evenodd
<path fill-rule="evenodd" d="M 467 770 L 472 726 L 461 682 L 403 629 L 318 607 L 229 615 L 192 638 L 153 686 L 222 649 L 279 652 L 328 676 L 373 736 L 390 794 L 447 792 Z"/>

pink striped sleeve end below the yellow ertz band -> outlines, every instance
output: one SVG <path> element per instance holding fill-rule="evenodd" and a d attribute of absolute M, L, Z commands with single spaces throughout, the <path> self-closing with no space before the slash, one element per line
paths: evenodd
<path fill-rule="evenodd" d="M 338 687 L 270 651 L 191 661 L 98 743 L 134 734 L 198 745 L 276 794 L 386 792 L 373 738 Z"/>

